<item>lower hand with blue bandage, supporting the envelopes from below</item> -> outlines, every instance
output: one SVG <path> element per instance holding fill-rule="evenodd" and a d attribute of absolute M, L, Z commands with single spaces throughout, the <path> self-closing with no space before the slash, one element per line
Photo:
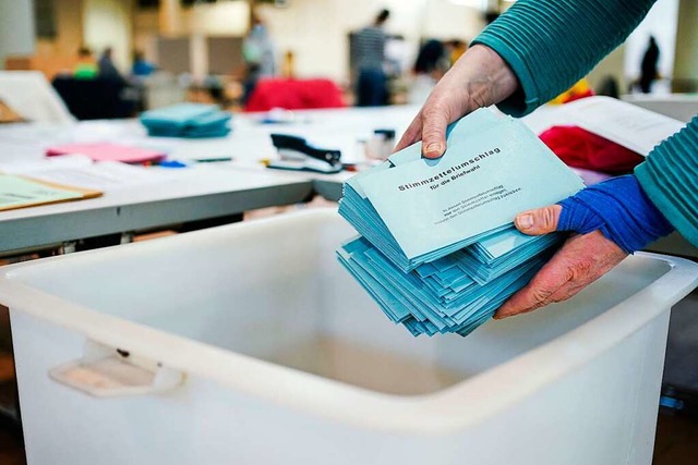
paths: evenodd
<path fill-rule="evenodd" d="M 525 234 L 579 234 L 568 238 L 528 285 L 500 307 L 496 319 L 566 301 L 629 253 L 673 231 L 633 175 L 587 187 L 559 205 L 519 213 L 514 224 Z"/>

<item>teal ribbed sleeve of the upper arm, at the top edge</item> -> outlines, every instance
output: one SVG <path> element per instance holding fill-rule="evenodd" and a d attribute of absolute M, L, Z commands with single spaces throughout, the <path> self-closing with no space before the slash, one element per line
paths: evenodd
<path fill-rule="evenodd" d="M 533 111 L 587 75 L 645 17 L 655 0 L 518 0 L 472 44 L 494 49 L 520 90 L 498 105 Z"/>

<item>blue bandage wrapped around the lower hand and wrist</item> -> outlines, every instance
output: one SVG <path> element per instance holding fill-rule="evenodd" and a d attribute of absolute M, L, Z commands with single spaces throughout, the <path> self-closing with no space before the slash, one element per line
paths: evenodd
<path fill-rule="evenodd" d="M 674 231 L 631 174 L 587 187 L 558 205 L 557 231 L 600 230 L 628 254 Z"/>

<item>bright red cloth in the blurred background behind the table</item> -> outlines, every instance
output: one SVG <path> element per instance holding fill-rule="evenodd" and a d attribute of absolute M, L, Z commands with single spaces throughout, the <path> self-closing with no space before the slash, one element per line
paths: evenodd
<path fill-rule="evenodd" d="M 329 79 L 262 79 L 252 91 L 244 111 L 340 107 L 346 107 L 341 90 Z"/>

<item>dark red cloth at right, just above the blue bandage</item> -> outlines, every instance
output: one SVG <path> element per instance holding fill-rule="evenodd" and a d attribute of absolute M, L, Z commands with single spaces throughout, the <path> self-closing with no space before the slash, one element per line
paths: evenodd
<path fill-rule="evenodd" d="M 565 164 L 611 174 L 629 173 L 645 157 L 578 126 L 553 126 L 540 135 Z"/>

